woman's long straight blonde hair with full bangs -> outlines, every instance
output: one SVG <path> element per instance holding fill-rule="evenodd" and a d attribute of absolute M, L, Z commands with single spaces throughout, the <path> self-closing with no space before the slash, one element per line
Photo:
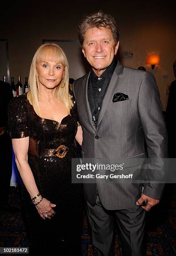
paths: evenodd
<path fill-rule="evenodd" d="M 30 74 L 29 74 L 29 92 L 27 93 L 27 100 L 33 106 L 35 112 L 40 115 L 39 97 L 40 90 L 38 87 L 39 79 L 36 65 L 40 62 L 52 61 L 64 65 L 64 76 L 56 88 L 57 98 L 67 107 L 68 113 L 73 106 L 71 96 L 69 95 L 69 72 L 68 61 L 64 51 L 57 44 L 42 44 L 32 59 Z M 65 82 L 64 82 L 65 81 Z M 65 83 L 65 84 L 64 84 Z"/>

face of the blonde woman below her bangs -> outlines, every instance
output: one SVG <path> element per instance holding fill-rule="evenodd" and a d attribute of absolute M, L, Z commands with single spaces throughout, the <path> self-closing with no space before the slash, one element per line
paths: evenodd
<path fill-rule="evenodd" d="M 36 65 L 40 86 L 54 89 L 64 76 L 64 65 L 56 62 L 45 61 Z"/>

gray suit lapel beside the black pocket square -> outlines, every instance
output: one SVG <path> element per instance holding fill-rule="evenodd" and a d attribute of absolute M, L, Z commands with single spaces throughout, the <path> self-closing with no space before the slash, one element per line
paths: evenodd
<path fill-rule="evenodd" d="M 109 83 L 109 86 L 107 88 L 107 92 L 106 92 L 103 102 L 102 102 L 102 108 L 99 113 L 97 128 L 104 116 L 105 111 L 107 110 L 107 108 L 109 106 L 109 103 L 112 100 L 115 90 L 117 90 L 117 87 L 119 86 L 119 82 L 121 79 L 121 75 L 123 74 L 123 70 L 124 70 L 124 66 L 122 66 L 121 63 L 118 61 L 117 66 L 112 75 L 111 81 Z"/>

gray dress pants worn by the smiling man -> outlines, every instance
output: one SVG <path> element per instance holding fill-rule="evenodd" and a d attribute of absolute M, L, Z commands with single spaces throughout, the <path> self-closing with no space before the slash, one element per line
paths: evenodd
<path fill-rule="evenodd" d="M 146 256 L 144 243 L 145 210 L 135 206 L 106 210 L 97 194 L 95 205 L 86 202 L 94 256 L 114 256 L 114 221 L 120 230 L 122 256 Z"/>

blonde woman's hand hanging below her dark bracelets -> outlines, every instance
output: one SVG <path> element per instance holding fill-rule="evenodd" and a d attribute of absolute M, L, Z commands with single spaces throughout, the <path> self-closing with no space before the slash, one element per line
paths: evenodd
<path fill-rule="evenodd" d="M 40 214 L 40 217 L 44 220 L 46 215 L 48 219 L 51 219 L 51 217 L 53 217 L 56 214 L 55 211 L 52 210 L 52 207 L 55 207 L 55 206 L 56 205 L 52 204 L 46 198 L 43 198 L 43 200 L 38 205 L 36 206 L 34 205 L 34 207 L 36 207 L 38 213 Z"/>

